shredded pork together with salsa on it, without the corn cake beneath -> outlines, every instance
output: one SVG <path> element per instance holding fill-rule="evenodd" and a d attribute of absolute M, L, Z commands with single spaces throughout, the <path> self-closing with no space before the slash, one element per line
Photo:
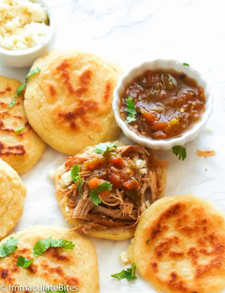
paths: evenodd
<path fill-rule="evenodd" d="M 92 227 L 102 230 L 136 226 L 141 212 L 150 205 L 149 200 L 156 201 L 163 191 L 163 161 L 141 145 L 119 146 L 103 154 L 93 150 L 84 156 L 69 157 L 64 173 L 76 164 L 81 168 L 78 176 L 82 197 L 77 187 L 79 182 L 67 186 L 63 196 L 69 199 L 71 219 L 89 221 L 82 225 L 84 233 Z M 96 205 L 90 193 L 103 183 L 110 184 L 110 189 L 98 194 L 100 203 Z"/>

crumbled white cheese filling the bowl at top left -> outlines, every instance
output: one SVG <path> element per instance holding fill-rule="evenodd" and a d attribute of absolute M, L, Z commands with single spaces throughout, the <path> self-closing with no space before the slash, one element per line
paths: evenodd
<path fill-rule="evenodd" d="M 0 47 L 23 50 L 42 43 L 49 30 L 46 8 L 29 0 L 0 0 Z"/>

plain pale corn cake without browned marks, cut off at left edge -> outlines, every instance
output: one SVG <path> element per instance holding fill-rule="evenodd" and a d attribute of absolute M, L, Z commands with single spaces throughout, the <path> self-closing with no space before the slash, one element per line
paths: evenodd
<path fill-rule="evenodd" d="M 17 172 L 0 159 L 0 239 L 9 234 L 22 216 L 26 193 Z"/>

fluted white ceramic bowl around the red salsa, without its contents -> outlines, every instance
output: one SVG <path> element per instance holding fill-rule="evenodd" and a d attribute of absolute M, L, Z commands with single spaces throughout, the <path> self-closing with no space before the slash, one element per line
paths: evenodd
<path fill-rule="evenodd" d="M 129 127 L 123 121 L 120 115 L 120 97 L 124 94 L 129 83 L 132 82 L 136 77 L 144 73 L 146 70 L 154 69 L 174 69 L 178 72 L 183 72 L 189 77 L 193 77 L 197 81 L 197 84 L 204 88 L 206 99 L 205 111 L 201 119 L 197 122 L 192 123 L 192 125 L 185 132 L 183 132 L 180 137 L 171 138 L 169 140 L 154 140 L 147 137 L 140 137 L 138 134 L 129 129 Z M 122 129 L 123 133 L 128 138 L 150 149 L 168 150 L 171 149 L 174 145 L 184 145 L 186 142 L 193 140 L 197 136 L 199 131 L 206 124 L 212 112 L 212 103 L 213 95 L 211 88 L 201 73 L 193 69 L 191 66 L 184 66 L 183 62 L 179 62 L 177 60 L 156 59 L 153 61 L 141 63 L 140 65 L 130 69 L 128 73 L 124 74 L 119 79 L 118 84 L 114 89 L 112 107 L 118 126 Z"/>

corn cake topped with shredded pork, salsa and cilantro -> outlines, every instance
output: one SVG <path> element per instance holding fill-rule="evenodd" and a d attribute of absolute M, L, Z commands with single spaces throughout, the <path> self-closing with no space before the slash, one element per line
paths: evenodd
<path fill-rule="evenodd" d="M 165 166 L 142 145 L 88 147 L 57 169 L 56 198 L 74 230 L 126 239 L 133 236 L 141 213 L 162 196 Z"/>

